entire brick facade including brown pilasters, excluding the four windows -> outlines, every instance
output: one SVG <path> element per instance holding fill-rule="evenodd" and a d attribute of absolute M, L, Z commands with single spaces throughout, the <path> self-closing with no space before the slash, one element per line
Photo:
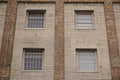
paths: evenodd
<path fill-rule="evenodd" d="M 0 0 L 7 2 L 8 0 Z M 89 2 L 89 3 L 65 3 L 63 2 Z M 105 1 L 105 2 L 104 2 Z M 9 0 L 6 4 L 0 3 L 0 79 L 9 80 L 119 80 L 119 3 L 120 0 L 18 0 L 17 20 L 16 0 Z M 25 3 L 31 2 L 31 3 Z M 32 3 L 35 2 L 35 3 Z M 41 3 L 40 3 L 41 2 Z M 49 3 L 52 2 L 52 3 Z M 53 2 L 56 2 L 55 4 Z M 92 3 L 95 2 L 95 3 Z M 98 3 L 97 3 L 98 2 Z M 99 3 L 104 2 L 105 4 Z M 56 6 L 55 6 L 56 5 Z M 65 10 L 64 10 L 64 6 Z M 46 9 L 45 29 L 26 29 L 26 10 Z M 75 28 L 74 10 L 94 10 L 94 30 L 77 30 Z M 3 10 L 3 11 L 1 11 Z M 104 12 L 105 10 L 105 12 Z M 4 17 L 6 13 L 6 20 Z M 64 12 L 65 11 L 65 12 Z M 55 12 L 55 13 L 54 13 Z M 65 13 L 65 14 L 63 14 Z M 104 15 L 105 13 L 105 15 Z M 64 16 L 65 15 L 65 16 Z M 2 17 L 2 18 L 1 18 Z M 17 22 L 16 22 L 17 21 Z M 5 24 L 5 25 L 4 25 Z M 15 25 L 16 24 L 16 25 Z M 16 32 L 15 32 L 16 26 Z M 116 34 L 117 26 L 117 34 Z M 4 31 L 3 31 L 4 27 Z M 8 29 L 10 28 L 10 29 Z M 64 30 L 65 29 L 65 30 Z M 107 30 L 107 31 L 106 31 Z M 4 34 L 3 34 L 4 32 Z M 15 32 L 15 41 L 14 41 Z M 51 34 L 49 34 L 51 33 Z M 65 33 L 65 34 L 64 34 Z M 2 41 L 2 35 L 4 35 Z M 92 36 L 91 36 L 92 35 Z M 117 36 L 118 35 L 118 36 Z M 117 42 L 118 37 L 118 42 Z M 65 38 L 65 39 L 64 39 Z M 65 40 L 65 43 L 64 43 Z M 9 43 L 9 44 L 8 44 Z M 14 47 L 13 47 L 14 44 Z M 65 46 L 65 48 L 64 48 Z M 45 48 L 44 70 L 40 72 L 26 72 L 22 70 L 23 48 Z M 96 73 L 79 73 L 76 71 L 76 48 L 96 48 L 98 56 L 98 71 Z M 5 53 L 5 54 L 4 54 Z M 13 57 L 12 57 L 13 54 Z M 55 54 L 55 55 L 54 55 Z M 64 58 L 65 54 L 65 58 Z M 109 61 L 109 54 L 110 60 Z M 6 59 L 4 59 L 6 57 Z M 54 63 L 55 57 L 55 63 Z M 12 59 L 12 63 L 11 63 Z M 65 59 L 65 61 L 64 61 Z M 5 67 L 1 68 L 5 61 Z M 64 67 L 65 63 L 65 67 Z M 111 70 L 110 70 L 111 63 Z M 11 67 L 12 64 L 12 67 Z M 71 64 L 73 66 L 71 66 Z M 10 69 L 11 68 L 11 69 Z M 65 75 L 64 75 L 65 70 Z M 112 78 L 111 78 L 112 71 Z M 1 77 L 2 76 L 2 77 Z M 65 77 L 64 77 L 65 76 Z M 86 77 L 87 76 L 87 77 Z"/>

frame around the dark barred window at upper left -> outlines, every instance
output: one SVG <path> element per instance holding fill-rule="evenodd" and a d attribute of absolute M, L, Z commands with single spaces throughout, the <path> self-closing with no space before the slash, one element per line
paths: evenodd
<path fill-rule="evenodd" d="M 35 27 L 33 27 L 33 28 L 30 28 L 30 27 L 28 27 L 28 17 L 29 17 L 29 12 L 34 12 L 34 11 L 38 11 L 38 12 L 43 12 L 44 13 L 44 17 L 43 17 L 43 27 L 41 27 L 41 28 L 35 28 Z M 34 10 L 26 10 L 26 29 L 45 29 L 45 19 L 46 19 L 46 10 L 36 10 L 36 9 L 34 9 Z"/>

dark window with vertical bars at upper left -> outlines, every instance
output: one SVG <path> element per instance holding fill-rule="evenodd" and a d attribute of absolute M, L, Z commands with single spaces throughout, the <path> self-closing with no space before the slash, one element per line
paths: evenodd
<path fill-rule="evenodd" d="M 27 28 L 43 28 L 44 27 L 44 10 L 27 11 L 28 22 Z"/>

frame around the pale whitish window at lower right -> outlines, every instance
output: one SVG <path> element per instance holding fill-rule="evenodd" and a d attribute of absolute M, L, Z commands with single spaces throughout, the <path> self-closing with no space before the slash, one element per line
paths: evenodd
<path fill-rule="evenodd" d="M 94 51 L 94 54 L 95 54 L 95 58 L 96 58 L 96 69 L 94 71 L 81 71 L 78 69 L 78 66 L 79 66 L 79 63 L 78 63 L 78 50 L 82 50 L 82 51 Z M 80 49 L 80 48 L 77 48 L 76 49 L 76 56 L 77 56 L 77 72 L 98 72 L 98 57 L 97 57 L 97 49 Z"/>

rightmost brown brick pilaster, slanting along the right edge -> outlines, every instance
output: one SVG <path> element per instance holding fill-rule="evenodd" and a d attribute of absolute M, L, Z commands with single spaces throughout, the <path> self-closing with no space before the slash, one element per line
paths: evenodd
<path fill-rule="evenodd" d="M 119 74 L 119 48 L 115 24 L 114 9 L 111 0 L 104 3 L 105 17 L 106 17 L 106 30 L 109 45 L 110 64 L 113 80 L 120 80 Z"/>

